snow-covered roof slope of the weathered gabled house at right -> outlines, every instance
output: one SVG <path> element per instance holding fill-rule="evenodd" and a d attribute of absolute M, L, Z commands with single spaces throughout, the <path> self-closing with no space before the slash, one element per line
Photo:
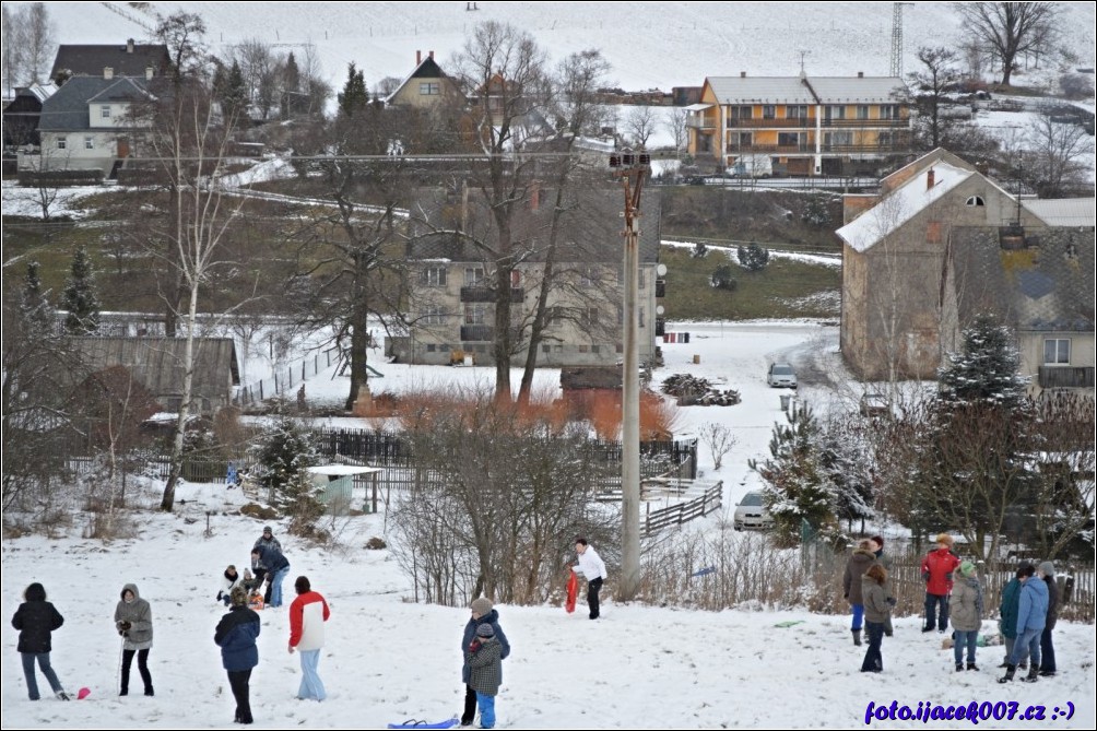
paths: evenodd
<path fill-rule="evenodd" d="M 841 240 L 856 251 L 866 251 L 880 239 L 889 236 L 903 224 L 940 200 L 953 188 L 971 178 L 975 172 L 938 162 L 934 171 L 934 187 L 926 188 L 928 173 L 917 175 L 892 193 L 862 213 L 836 233 Z"/>

